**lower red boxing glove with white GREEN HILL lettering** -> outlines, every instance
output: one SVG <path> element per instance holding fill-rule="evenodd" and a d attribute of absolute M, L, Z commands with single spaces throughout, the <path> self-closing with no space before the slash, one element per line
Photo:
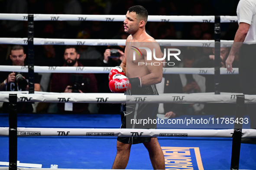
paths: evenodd
<path fill-rule="evenodd" d="M 108 85 L 113 93 L 121 93 L 131 89 L 129 79 L 121 74 L 114 75 L 113 80 L 110 80 Z"/>

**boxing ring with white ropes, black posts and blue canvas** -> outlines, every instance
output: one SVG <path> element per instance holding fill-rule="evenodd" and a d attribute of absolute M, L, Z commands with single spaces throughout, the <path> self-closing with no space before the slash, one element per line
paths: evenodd
<path fill-rule="evenodd" d="M 106 21 L 123 22 L 125 16 L 111 15 L 45 15 L 45 14 L 0 14 L 0 19 L 28 21 L 28 38 L 0 38 L 1 44 L 28 45 L 28 66 L 0 66 L 0 71 L 29 72 L 73 72 L 73 73 L 109 73 L 110 67 L 55 67 L 34 66 L 33 45 L 125 45 L 125 40 L 101 39 L 49 39 L 33 38 L 33 21 Z M 220 74 L 238 74 L 238 69 L 227 72 L 220 68 L 220 47 L 231 47 L 233 41 L 220 40 L 220 23 L 237 22 L 236 16 L 149 16 L 149 22 L 212 22 L 214 23 L 215 41 L 156 40 L 160 46 L 172 42 L 172 46 L 215 47 L 214 68 L 164 68 L 168 74 L 208 74 L 215 76 L 213 93 L 200 94 L 162 94 L 146 96 L 146 103 L 172 103 L 173 97 L 182 98 L 175 103 L 233 103 L 237 105 L 236 118 L 244 118 L 244 104 L 256 103 L 256 96 L 221 93 Z M 31 76 L 29 76 L 31 77 Z M 32 76 L 33 77 L 33 76 Z M 159 144 L 165 155 L 165 168 L 169 170 L 188 169 L 256 169 L 254 153 L 256 146 L 241 144 L 240 139 L 256 137 L 256 130 L 248 123 L 230 123 L 227 126 L 214 124 L 214 115 L 207 115 L 203 120 L 211 129 L 204 129 L 199 124 L 177 128 L 176 125 L 166 128 L 168 120 L 160 121 L 158 129 L 119 129 L 119 115 L 57 115 L 57 114 L 24 114 L 17 115 L 17 102 L 81 102 L 100 103 L 139 103 L 136 97 L 123 94 L 64 94 L 36 92 L 33 90 L 33 79 L 29 79 L 29 91 L 1 92 L 0 101 L 10 102 L 9 114 L 0 115 L 0 169 L 20 170 L 49 168 L 57 164 L 65 169 L 110 169 L 116 154 L 116 136 L 158 136 Z M 144 102 L 144 101 L 143 101 Z M 145 102 L 144 102 L 145 103 Z M 193 116 L 194 117 L 194 116 Z M 200 119 L 201 117 L 194 117 Z M 226 117 L 231 120 L 232 117 Z M 188 120 L 192 117 L 181 116 L 174 120 Z M 248 117 L 247 117 L 248 119 Z M 8 124 L 9 121 L 9 124 Z M 178 121 L 178 120 L 177 120 Z M 216 120 L 215 120 L 216 122 Z M 179 127 L 179 126 L 178 126 Z M 9 142 L 8 142 L 9 141 Z M 241 147 L 241 148 L 240 148 Z M 176 153 L 176 156 L 172 155 Z M 169 158 L 173 156 L 172 158 Z M 177 157 L 180 154 L 181 157 Z M 9 157 L 8 157 L 9 155 Z M 18 161 L 18 162 L 17 162 Z M 10 164 L 8 163 L 10 162 Z M 26 167 L 26 168 L 25 168 Z M 152 169 L 146 148 L 133 145 L 127 169 Z"/>

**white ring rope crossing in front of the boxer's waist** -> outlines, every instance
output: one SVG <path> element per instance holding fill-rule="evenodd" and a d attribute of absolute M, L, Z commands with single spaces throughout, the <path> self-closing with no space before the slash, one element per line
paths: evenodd
<path fill-rule="evenodd" d="M 17 94 L 18 102 L 55 102 L 55 103 L 236 103 L 237 94 L 164 94 L 164 95 L 124 95 L 111 93 L 64 94 Z M 0 102 L 9 102 L 9 94 L 2 93 Z M 256 95 L 245 95 L 245 103 L 256 103 Z"/>

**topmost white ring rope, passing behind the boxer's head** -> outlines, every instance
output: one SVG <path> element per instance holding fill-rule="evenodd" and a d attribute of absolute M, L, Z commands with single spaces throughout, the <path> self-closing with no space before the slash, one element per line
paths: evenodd
<path fill-rule="evenodd" d="M 33 14 L 34 21 L 120 21 L 125 15 Z M 28 14 L 0 14 L 0 20 L 27 21 Z M 148 16 L 149 22 L 214 22 L 214 16 Z M 220 16 L 220 22 L 237 22 L 237 16 Z"/>

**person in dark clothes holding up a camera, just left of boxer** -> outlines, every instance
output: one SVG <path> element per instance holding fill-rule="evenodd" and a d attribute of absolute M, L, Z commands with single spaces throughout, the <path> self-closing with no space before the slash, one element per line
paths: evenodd
<path fill-rule="evenodd" d="M 119 66 L 123 60 L 124 56 L 124 46 L 109 46 L 105 52 L 104 52 L 104 57 L 98 58 L 96 62 L 96 66 L 99 67 L 115 67 Z M 114 50 L 113 55 L 111 56 L 111 50 Z M 108 83 L 108 74 L 97 74 L 97 87 L 99 89 L 99 93 L 111 93 Z M 101 114 L 117 114 L 120 112 L 120 106 L 121 104 L 99 104 L 99 110 L 98 113 Z"/>

